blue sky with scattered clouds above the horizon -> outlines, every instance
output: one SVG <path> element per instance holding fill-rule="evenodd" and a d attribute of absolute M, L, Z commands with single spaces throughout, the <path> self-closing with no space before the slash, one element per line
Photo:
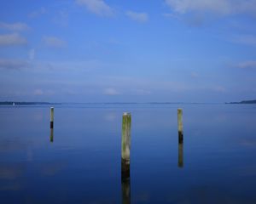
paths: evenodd
<path fill-rule="evenodd" d="M 256 0 L 1 0 L 0 101 L 256 99 Z"/>

